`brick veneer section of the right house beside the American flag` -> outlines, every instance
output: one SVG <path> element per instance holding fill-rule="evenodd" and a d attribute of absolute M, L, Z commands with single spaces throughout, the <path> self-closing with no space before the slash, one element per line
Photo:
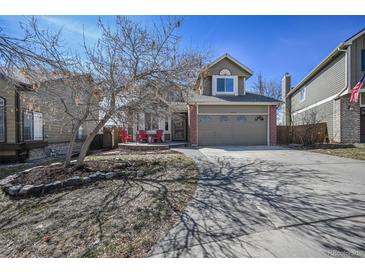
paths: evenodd
<path fill-rule="evenodd" d="M 350 94 L 342 96 L 340 100 L 340 141 L 341 143 L 360 142 L 360 104 L 352 103 L 352 110 L 348 109 Z"/>

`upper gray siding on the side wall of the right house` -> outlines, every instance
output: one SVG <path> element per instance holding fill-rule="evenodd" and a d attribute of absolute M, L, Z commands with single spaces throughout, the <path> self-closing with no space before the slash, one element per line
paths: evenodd
<path fill-rule="evenodd" d="M 345 55 L 341 54 L 304 85 L 306 98 L 303 102 L 300 102 L 300 90 L 292 95 L 292 113 L 339 93 L 345 86 L 345 78 Z"/>

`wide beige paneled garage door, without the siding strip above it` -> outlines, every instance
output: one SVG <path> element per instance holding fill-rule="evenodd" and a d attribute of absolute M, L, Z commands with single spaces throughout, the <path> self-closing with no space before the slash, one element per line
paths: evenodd
<path fill-rule="evenodd" d="M 200 145 L 266 145 L 267 115 L 199 115 Z"/>

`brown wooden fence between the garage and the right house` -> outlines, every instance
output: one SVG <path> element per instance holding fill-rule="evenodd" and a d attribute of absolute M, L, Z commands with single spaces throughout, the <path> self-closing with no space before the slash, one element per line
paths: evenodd
<path fill-rule="evenodd" d="M 279 145 L 327 143 L 327 123 L 300 126 L 278 126 L 277 143 Z"/>

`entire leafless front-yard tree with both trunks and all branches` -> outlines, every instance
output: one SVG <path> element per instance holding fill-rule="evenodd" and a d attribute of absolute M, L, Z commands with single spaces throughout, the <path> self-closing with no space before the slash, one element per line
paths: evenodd
<path fill-rule="evenodd" d="M 116 17 L 113 27 L 99 20 L 102 35 L 94 46 L 84 43 L 81 58 L 60 44 L 60 33 L 41 31 L 32 19 L 24 38 L 2 36 L 0 58 L 4 67 L 25 68 L 35 88 L 64 106 L 65 122 L 72 123 L 66 164 L 80 126 L 95 122 L 82 144 L 76 164 L 80 167 L 91 142 L 110 119 L 151 109 L 168 112 L 176 98 L 188 100 L 202 56 L 179 51 L 180 24 L 179 18 L 168 18 L 147 29 L 127 17 Z M 52 88 L 55 78 L 68 89 L 68 99 Z"/>

